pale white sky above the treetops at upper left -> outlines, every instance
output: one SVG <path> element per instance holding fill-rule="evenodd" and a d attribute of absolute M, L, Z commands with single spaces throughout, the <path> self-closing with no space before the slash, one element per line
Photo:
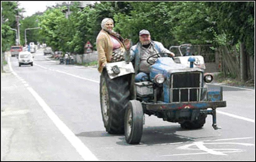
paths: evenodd
<path fill-rule="evenodd" d="M 26 12 L 23 13 L 23 16 L 32 16 L 36 12 L 44 12 L 46 6 L 56 5 L 56 3 L 70 2 L 70 1 L 18 1 L 19 8 L 24 8 Z"/>

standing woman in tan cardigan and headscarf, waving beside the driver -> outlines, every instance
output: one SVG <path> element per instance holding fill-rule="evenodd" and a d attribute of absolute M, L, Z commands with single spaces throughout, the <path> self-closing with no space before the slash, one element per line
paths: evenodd
<path fill-rule="evenodd" d="M 125 50 L 129 50 L 130 41 L 113 31 L 114 21 L 105 18 L 101 21 L 102 30 L 97 36 L 98 71 L 101 73 L 107 62 L 125 60 Z"/>

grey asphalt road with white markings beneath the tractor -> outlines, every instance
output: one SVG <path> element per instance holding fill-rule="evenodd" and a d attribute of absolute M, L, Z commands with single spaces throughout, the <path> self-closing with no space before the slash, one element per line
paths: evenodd
<path fill-rule="evenodd" d="M 130 145 L 105 131 L 96 67 L 34 57 L 33 67 L 10 57 L 2 73 L 1 160 L 255 160 L 254 90 L 223 86 L 222 129 L 210 115 L 197 130 L 145 115 L 141 143 Z"/>

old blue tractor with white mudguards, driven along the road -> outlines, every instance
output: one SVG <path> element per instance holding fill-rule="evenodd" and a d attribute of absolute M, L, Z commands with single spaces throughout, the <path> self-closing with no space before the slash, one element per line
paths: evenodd
<path fill-rule="evenodd" d="M 206 83 L 213 76 L 204 73 L 202 56 L 150 56 L 149 81 L 134 81 L 131 62 L 108 63 L 101 74 L 101 113 L 106 131 L 125 134 L 130 144 L 140 142 L 144 114 L 155 115 L 164 121 L 176 122 L 184 129 L 203 127 L 207 115 L 216 124 L 216 108 L 226 107 L 220 90 L 210 91 Z M 158 57 L 152 61 L 151 57 Z"/>

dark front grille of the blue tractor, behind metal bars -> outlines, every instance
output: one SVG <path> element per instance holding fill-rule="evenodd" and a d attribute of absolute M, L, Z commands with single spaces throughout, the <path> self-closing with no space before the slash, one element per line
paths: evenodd
<path fill-rule="evenodd" d="M 175 73 L 172 75 L 170 89 L 171 102 L 200 101 L 201 73 Z"/>

